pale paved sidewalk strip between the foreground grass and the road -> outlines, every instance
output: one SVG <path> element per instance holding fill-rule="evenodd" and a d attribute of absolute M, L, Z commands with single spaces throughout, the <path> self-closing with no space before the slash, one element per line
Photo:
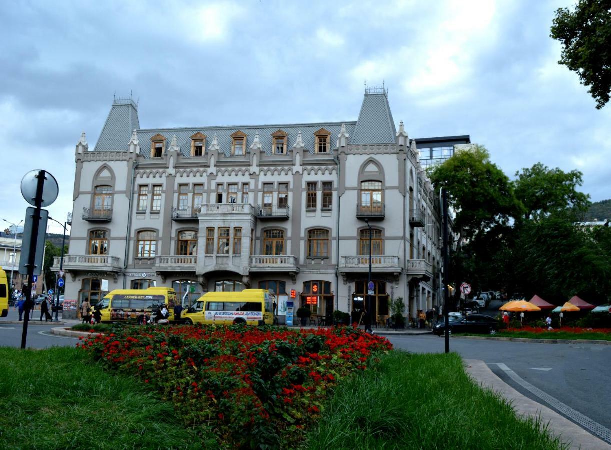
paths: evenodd
<path fill-rule="evenodd" d="M 610 450 L 611 446 L 591 435 L 581 427 L 577 426 L 569 419 L 552 411 L 550 408 L 541 405 L 528 397 L 523 396 L 507 383 L 497 377 L 484 361 L 465 360 L 466 372 L 478 385 L 489 388 L 501 394 L 511 402 L 514 410 L 519 416 L 541 416 L 544 424 L 549 423 L 549 430 L 555 435 L 569 443 L 571 449 L 582 450 Z"/>

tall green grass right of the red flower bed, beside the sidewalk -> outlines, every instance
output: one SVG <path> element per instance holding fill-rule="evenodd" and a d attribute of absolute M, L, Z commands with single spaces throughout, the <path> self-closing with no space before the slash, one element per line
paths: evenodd
<path fill-rule="evenodd" d="M 558 449 L 532 419 L 478 388 L 456 354 L 393 351 L 340 383 L 310 449 Z"/>

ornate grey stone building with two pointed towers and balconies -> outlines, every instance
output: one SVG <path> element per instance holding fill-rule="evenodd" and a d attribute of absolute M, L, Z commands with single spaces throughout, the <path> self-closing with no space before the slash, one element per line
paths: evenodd
<path fill-rule="evenodd" d="M 268 288 L 281 322 L 291 291 L 328 317 L 362 307 L 371 235 L 376 319 L 398 297 L 411 317 L 437 305 L 439 201 L 384 89 L 365 90 L 356 122 L 293 125 L 143 129 L 115 99 L 75 162 L 65 299 Z"/>

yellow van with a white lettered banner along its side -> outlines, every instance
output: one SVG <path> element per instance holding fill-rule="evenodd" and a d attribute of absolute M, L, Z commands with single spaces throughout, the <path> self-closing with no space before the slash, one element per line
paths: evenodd
<path fill-rule="evenodd" d="M 266 289 L 207 292 L 181 316 L 183 324 L 271 325 L 273 296 Z"/>

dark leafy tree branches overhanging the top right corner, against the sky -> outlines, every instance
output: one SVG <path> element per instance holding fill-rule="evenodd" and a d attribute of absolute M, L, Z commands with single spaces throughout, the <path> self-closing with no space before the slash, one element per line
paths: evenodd
<path fill-rule="evenodd" d="M 551 37 L 562 43 L 558 64 L 579 74 L 601 109 L 611 92 L 611 2 L 579 0 L 574 12 L 558 9 Z"/>

